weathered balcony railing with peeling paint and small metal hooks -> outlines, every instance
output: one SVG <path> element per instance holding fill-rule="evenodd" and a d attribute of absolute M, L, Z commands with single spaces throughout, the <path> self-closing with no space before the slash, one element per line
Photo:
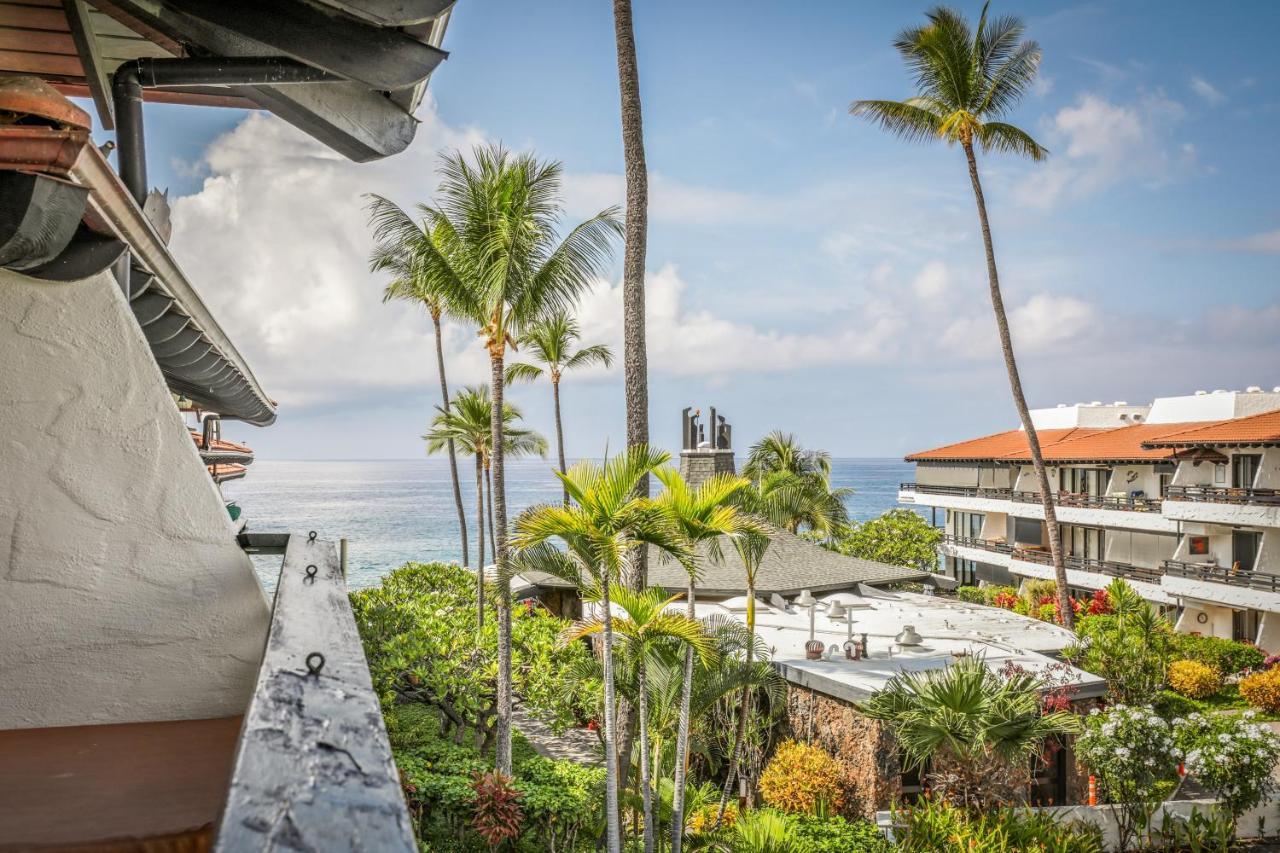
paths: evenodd
<path fill-rule="evenodd" d="M 215 849 L 416 850 L 337 544 L 241 543 L 284 562 Z"/>

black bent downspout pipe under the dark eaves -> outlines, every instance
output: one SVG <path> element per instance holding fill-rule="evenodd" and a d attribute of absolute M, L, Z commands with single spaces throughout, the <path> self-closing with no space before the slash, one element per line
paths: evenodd
<path fill-rule="evenodd" d="M 142 127 L 142 90 L 170 86 L 288 86 L 342 79 L 320 68 L 284 56 L 197 56 L 134 59 L 111 78 L 116 115 L 120 181 L 142 206 L 147 197 L 147 152 Z"/>

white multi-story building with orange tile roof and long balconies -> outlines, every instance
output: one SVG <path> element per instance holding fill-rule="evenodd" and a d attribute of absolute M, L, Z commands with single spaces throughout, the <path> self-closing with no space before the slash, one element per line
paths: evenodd
<path fill-rule="evenodd" d="M 1180 631 L 1280 649 L 1280 388 L 1032 412 L 1050 466 L 1068 580 L 1124 578 Z M 1052 578 L 1020 429 L 906 457 L 899 501 L 932 507 L 947 574 Z"/>

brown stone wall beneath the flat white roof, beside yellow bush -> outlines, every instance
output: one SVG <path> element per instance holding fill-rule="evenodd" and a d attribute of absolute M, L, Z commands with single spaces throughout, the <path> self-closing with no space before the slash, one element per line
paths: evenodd
<path fill-rule="evenodd" d="M 902 767 L 893 736 L 849 702 L 787 685 L 786 726 L 788 736 L 820 747 L 845 766 L 846 816 L 873 820 L 899 798 Z"/>

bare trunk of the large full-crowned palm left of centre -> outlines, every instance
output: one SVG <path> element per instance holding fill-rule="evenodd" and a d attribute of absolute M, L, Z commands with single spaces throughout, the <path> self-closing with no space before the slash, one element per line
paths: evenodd
<path fill-rule="evenodd" d="M 489 508 L 493 511 L 493 553 L 498 567 L 498 748 L 494 766 L 498 772 L 511 775 L 511 578 L 507 576 L 507 482 L 503 471 L 503 432 L 502 432 L 502 362 L 503 352 L 490 353 L 490 396 L 493 416 L 489 421 L 492 434 L 493 485 L 489 494 Z"/>

